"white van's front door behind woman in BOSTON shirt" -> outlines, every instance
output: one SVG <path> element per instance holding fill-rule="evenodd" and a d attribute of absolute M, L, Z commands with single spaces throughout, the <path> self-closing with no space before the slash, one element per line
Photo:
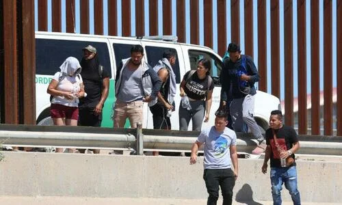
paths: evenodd
<path fill-rule="evenodd" d="M 189 68 L 189 70 L 196 70 L 197 62 L 202 58 L 207 58 L 211 61 L 210 75 L 213 78 L 215 87 L 213 90 L 209 122 L 203 122 L 202 124 L 202 129 L 209 128 L 213 126 L 215 122 L 215 111 L 220 107 L 221 84 L 219 77 L 223 68 L 222 60 L 213 50 L 207 47 L 184 45 L 182 46 L 182 51 L 185 59 L 185 68 Z M 189 125 L 191 124 L 189 123 Z"/>

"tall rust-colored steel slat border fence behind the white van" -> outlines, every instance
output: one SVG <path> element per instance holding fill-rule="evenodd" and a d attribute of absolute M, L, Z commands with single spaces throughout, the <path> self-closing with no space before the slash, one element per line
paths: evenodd
<path fill-rule="evenodd" d="M 31 3 L 31 1 L 29 2 Z M 259 90 L 272 93 L 278 98 L 283 92 L 285 103 L 282 109 L 285 110 L 286 124 L 293 126 L 295 123 L 293 109 L 298 107 L 298 132 L 300 134 L 307 134 L 307 126 L 311 124 L 311 135 L 321 135 L 321 128 L 324 128 L 324 135 L 333 135 L 333 125 L 336 124 L 337 135 L 342 135 L 342 0 L 65 0 L 65 10 L 61 10 L 61 0 L 53 0 L 51 1 L 51 11 L 48 11 L 48 2 L 48 0 L 36 0 L 38 3 L 36 11 L 38 25 L 36 26 L 39 31 L 48 31 L 48 15 L 51 15 L 52 31 L 62 31 L 62 25 L 65 24 L 66 32 L 74 33 L 78 27 L 79 33 L 90 33 L 90 22 L 94 22 L 94 34 L 99 35 L 103 35 L 104 28 L 107 28 L 105 34 L 113 36 L 118 35 L 119 30 L 121 36 L 131 36 L 133 29 L 136 36 L 144 36 L 146 33 L 155 36 L 160 34 L 159 28 L 161 27 L 163 35 L 170 35 L 174 29 L 172 28 L 174 19 L 176 19 L 175 34 L 179 37 L 179 42 L 200 44 L 200 36 L 202 36 L 204 45 L 215 49 L 220 55 L 224 54 L 230 41 L 244 44 L 245 51 L 243 53 L 252 57 L 257 54 L 255 60 L 261 75 Z M 14 23 L 12 18 L 8 18 L 10 11 L 7 9 L 14 6 L 8 5 L 11 3 L 12 1 L 9 0 L 3 1 L 2 6 L 5 9 L 2 9 L 1 12 L 3 16 L 6 15 L 6 18 L 3 19 L 3 27 L 6 23 Z M 77 3 L 79 10 L 76 10 Z M 104 8 L 103 5 L 107 5 L 107 8 Z M 133 5 L 135 5 L 134 8 Z M 146 13 L 146 8 L 148 8 L 148 13 Z M 307 18 L 306 15 L 308 11 L 310 18 Z M 104 12 L 107 12 L 107 17 L 104 17 Z M 90 19 L 90 13 L 94 14 L 93 20 Z M 65 19 L 62 19 L 62 14 L 65 14 Z M 118 16 L 119 14 L 121 15 Z M 200 14 L 204 17 L 200 18 Z M 332 16 L 332 14 L 337 15 Z M 280 23 L 280 16 L 283 16 L 283 23 Z M 336 19 L 336 25 L 332 25 L 333 17 Z M 162 21 L 159 18 L 162 18 Z M 79 22 L 76 21 L 77 19 Z M 203 22 L 200 22 L 200 19 L 203 19 Z M 66 22 L 63 23 L 62 20 L 66 20 Z M 134 28 L 132 21 L 134 21 Z M 311 27 L 306 26 L 308 22 Z M 319 31 L 320 23 L 323 23 L 324 28 L 321 32 Z M 269 30 L 267 24 L 269 24 Z M 121 27 L 119 27 L 120 25 Z M 148 31 L 145 29 L 146 25 L 148 25 Z M 200 25 L 203 25 L 204 29 L 201 30 Z M 283 25 L 283 29 L 280 27 L 281 25 Z M 295 28 L 297 33 L 293 33 L 293 25 L 297 25 Z M 337 27 L 336 33 L 333 33 L 333 27 Z M 17 35 L 16 31 L 5 30 L 3 32 L 5 37 L 13 34 L 13 39 L 10 38 L 12 42 L 2 42 L 1 49 L 6 48 L 10 43 L 19 43 L 14 39 Z M 284 32 L 280 33 L 282 30 Z M 202 33 L 200 33 L 201 31 Z M 310 41 L 306 35 L 308 32 Z M 4 35 L 3 33 L 1 35 Z M 189 33 L 189 39 L 187 39 L 187 33 Z M 280 38 L 281 35 L 283 38 Z M 324 43 L 320 44 L 319 38 L 322 35 Z M 337 53 L 332 52 L 333 36 L 337 37 L 335 40 Z M 255 44 L 254 39 L 257 39 Z M 281 46 L 282 43 L 283 46 Z M 310 45 L 310 57 L 306 55 L 308 44 Z M 215 45 L 217 47 L 214 48 Z M 10 68 L 8 64 L 18 64 L 18 60 L 21 60 L 18 59 L 18 55 L 12 55 L 15 52 L 14 50 L 12 53 L 1 54 L 1 57 L 5 56 L 6 59 L 3 63 L 5 64 L 5 75 L 10 77 L 9 81 L 11 82 L 18 81 L 16 76 L 18 72 L 7 70 Z M 324 55 L 323 70 L 320 70 L 319 66 L 322 63 L 319 60 L 320 53 Z M 333 55 L 337 56 L 335 58 L 337 59 L 337 68 L 333 68 Z M 10 60 L 7 60 L 7 57 Z M 297 59 L 297 64 L 294 64 L 295 59 Z M 309 59 L 310 62 L 308 62 Z M 284 70 L 281 70 L 281 64 L 283 64 Z M 311 68 L 308 68 L 308 65 L 311 65 Z M 334 69 L 337 71 L 334 72 Z M 4 75 L 1 74 L 1 76 Z M 323 79 L 323 93 L 320 91 L 322 86 L 319 85 L 321 79 Z M 333 81 L 337 82 L 337 89 L 333 88 Z M 9 87 L 10 85 L 6 85 L 6 83 L 8 83 L 7 79 L 4 84 L 5 87 Z M 20 83 L 17 82 L 16 85 L 18 86 Z M 298 90 L 294 90 L 295 88 Z M 14 89 L 18 89 L 18 87 L 14 87 Z M 311 90 L 309 95 L 308 90 Z M 298 98 L 294 98 L 294 93 L 298 93 Z M 333 112 L 333 95 L 337 96 L 337 101 L 334 102 L 337 105 L 336 113 Z M 3 98 L 1 99 L 3 102 Z M 12 101 L 6 101 L 6 103 L 11 102 L 13 105 L 18 103 L 16 98 L 9 99 Z M 308 115 L 308 105 L 311 105 L 311 115 Z M 321 106 L 323 106 L 323 113 Z M 3 113 L 1 111 L 1 115 Z M 335 121 L 333 120 L 334 114 Z M 5 115 L 8 115 L 6 111 Z M 15 113 L 13 118 L 16 118 L 15 115 L 18 113 Z M 18 121 L 14 120 L 13 122 Z"/>

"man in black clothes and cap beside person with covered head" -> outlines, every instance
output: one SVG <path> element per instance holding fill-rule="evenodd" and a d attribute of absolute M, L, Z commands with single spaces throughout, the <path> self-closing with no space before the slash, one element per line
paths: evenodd
<path fill-rule="evenodd" d="M 88 45 L 81 59 L 86 96 L 79 100 L 79 126 L 101 126 L 103 104 L 108 96 L 109 73 L 103 69 L 94 46 Z M 79 150 L 84 153 L 85 150 Z M 99 154 L 100 150 L 93 150 Z"/>

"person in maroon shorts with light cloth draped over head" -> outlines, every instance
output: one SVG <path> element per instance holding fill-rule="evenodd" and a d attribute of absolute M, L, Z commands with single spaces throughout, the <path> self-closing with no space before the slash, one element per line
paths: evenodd
<path fill-rule="evenodd" d="M 79 118 L 79 98 L 84 96 L 84 86 L 81 78 L 81 65 L 75 57 L 68 57 L 60 66 L 47 88 L 51 94 L 51 118 L 57 126 L 77 126 Z M 57 148 L 56 152 L 63 152 Z"/>

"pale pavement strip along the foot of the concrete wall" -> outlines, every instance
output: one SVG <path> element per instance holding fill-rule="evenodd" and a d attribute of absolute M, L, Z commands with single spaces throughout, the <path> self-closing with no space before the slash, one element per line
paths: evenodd
<path fill-rule="evenodd" d="M 161 199 L 161 198 L 91 198 L 91 197 L 16 197 L 16 196 L 0 196 L 1 205 L 202 205 L 206 204 L 207 200 L 180 200 L 180 199 Z M 218 204 L 222 204 L 219 200 Z M 248 204 L 248 205 L 271 205 L 272 202 L 233 202 L 233 204 Z M 284 205 L 292 204 L 292 202 L 282 203 Z M 319 203 L 302 203 L 303 205 L 318 205 Z M 342 204 L 342 203 L 341 203 Z M 324 203 L 324 205 L 335 205 Z"/>

